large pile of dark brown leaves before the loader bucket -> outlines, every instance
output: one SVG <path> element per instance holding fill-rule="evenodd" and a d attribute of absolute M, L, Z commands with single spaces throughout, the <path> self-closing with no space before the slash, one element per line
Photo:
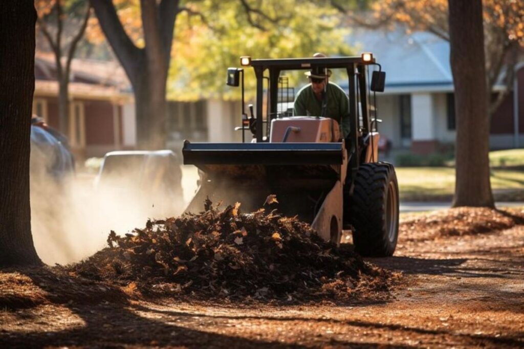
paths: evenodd
<path fill-rule="evenodd" d="M 201 298 L 319 300 L 387 298 L 391 272 L 350 248 L 324 242 L 307 223 L 241 204 L 166 220 L 118 236 L 72 266 L 89 278 L 145 292 Z M 385 292 L 386 291 L 386 292 Z"/>

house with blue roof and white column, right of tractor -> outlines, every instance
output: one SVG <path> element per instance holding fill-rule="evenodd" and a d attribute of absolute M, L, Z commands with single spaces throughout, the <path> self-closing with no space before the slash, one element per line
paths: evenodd
<path fill-rule="evenodd" d="M 381 135 L 392 147 L 429 154 L 455 142 L 455 109 L 449 42 L 428 32 L 356 30 L 348 41 L 373 52 L 386 72 L 377 94 Z M 517 66 L 513 91 L 492 116 L 492 149 L 524 147 L 524 63 Z M 498 83 L 494 90 L 505 89 Z"/>

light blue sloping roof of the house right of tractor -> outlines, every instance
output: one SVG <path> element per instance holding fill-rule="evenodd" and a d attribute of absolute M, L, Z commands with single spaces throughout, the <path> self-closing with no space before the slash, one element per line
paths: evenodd
<path fill-rule="evenodd" d="M 385 93 L 453 91 L 450 44 L 430 32 L 355 29 L 347 41 L 373 52 L 386 72 Z"/>

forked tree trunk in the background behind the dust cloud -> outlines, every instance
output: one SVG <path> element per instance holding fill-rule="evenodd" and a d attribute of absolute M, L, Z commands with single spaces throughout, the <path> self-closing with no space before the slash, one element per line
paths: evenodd
<path fill-rule="evenodd" d="M 178 0 L 140 0 L 146 46 L 127 36 L 110 0 L 90 0 L 107 41 L 133 86 L 138 147 L 166 147 L 166 83 Z"/>

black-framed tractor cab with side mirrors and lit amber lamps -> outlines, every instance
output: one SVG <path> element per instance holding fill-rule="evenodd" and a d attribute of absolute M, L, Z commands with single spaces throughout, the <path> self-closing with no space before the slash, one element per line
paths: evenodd
<path fill-rule="evenodd" d="M 228 69 L 227 85 L 242 86 L 242 125 L 235 129 L 242 132 L 243 143 L 341 141 L 340 132 L 333 132 L 333 129 L 339 128 L 335 120 L 329 117 L 327 120 L 321 120 L 316 115 L 293 115 L 293 104 L 298 90 L 293 86 L 293 82 L 299 82 L 300 85 L 309 84 L 304 81 L 304 72 L 313 67 L 332 70 L 334 74 L 330 81 L 339 84 L 346 95 L 350 96 L 352 132 L 346 140 L 346 147 L 356 149 L 357 141 L 369 142 L 375 133 L 378 142 L 377 124 L 380 120 L 377 119 L 376 100 L 373 99 L 373 105 L 370 103 L 370 92 L 384 91 L 385 72 L 375 63 L 372 53 L 363 53 L 358 58 L 252 60 L 250 57 L 241 57 L 241 66 L 255 69 L 257 96 L 263 96 L 257 98 L 256 107 L 249 104 L 248 115 L 244 107 L 244 68 Z M 373 71 L 370 82 L 367 81 L 368 66 L 379 68 Z M 298 116 L 301 118 L 298 119 Z M 313 124 L 316 124 L 316 127 L 310 127 Z M 324 131 L 312 131 L 314 128 Z M 325 131 L 328 129 L 331 132 Z M 308 135 L 304 134 L 306 130 Z M 246 136 L 247 131 L 252 137 Z"/>

